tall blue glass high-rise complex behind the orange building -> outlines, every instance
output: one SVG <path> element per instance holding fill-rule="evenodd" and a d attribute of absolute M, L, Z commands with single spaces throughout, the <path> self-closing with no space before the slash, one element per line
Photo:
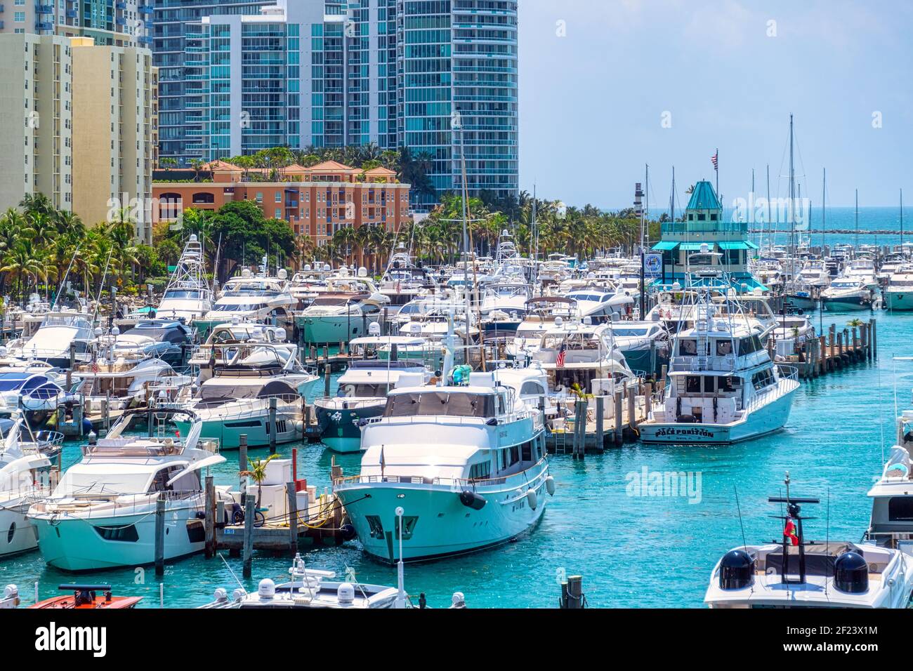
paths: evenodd
<path fill-rule="evenodd" d="M 427 163 L 437 194 L 464 155 L 471 194 L 517 194 L 517 0 L 212 5 L 156 10 L 163 159 L 373 142 Z"/>

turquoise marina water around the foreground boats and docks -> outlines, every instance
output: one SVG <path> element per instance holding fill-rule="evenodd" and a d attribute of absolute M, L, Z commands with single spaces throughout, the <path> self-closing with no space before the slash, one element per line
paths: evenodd
<path fill-rule="evenodd" d="M 824 327 L 859 316 L 825 315 Z M 817 381 L 803 383 L 796 394 L 786 430 L 761 440 L 728 447 L 686 448 L 631 443 L 602 456 L 573 461 L 552 456 L 551 472 L 558 489 L 540 524 L 522 539 L 496 550 L 452 560 L 407 565 L 406 589 L 426 592 L 433 606 L 449 603 L 454 591 L 465 592 L 470 607 L 553 607 L 560 592 L 556 571 L 581 573 L 591 606 L 700 607 L 709 572 L 719 556 L 741 543 L 735 503 L 738 490 L 742 521 L 749 543 L 779 538 L 780 521 L 767 516 L 779 508 L 767 504 L 782 488 L 789 470 L 792 492 L 818 496 L 822 504 L 805 512 L 808 538 L 823 539 L 830 499 L 832 540 L 859 540 L 866 529 L 866 489 L 882 467 L 893 444 L 894 384 L 897 373 L 913 373 L 913 363 L 891 357 L 913 354 L 909 333 L 913 315 L 878 313 L 880 356 L 875 364 L 860 363 Z M 867 316 L 866 316 L 867 319 Z M 815 315 L 814 322 L 819 323 Z M 908 407 L 913 383 L 897 383 L 900 407 Z M 299 445 L 299 477 L 319 488 L 330 484 L 331 452 L 320 445 Z M 280 446 L 283 456 L 291 446 Z M 260 456 L 268 450 L 252 450 Z M 79 446 L 65 451 L 65 467 L 79 456 Z M 216 482 L 236 483 L 236 453 L 214 468 Z M 336 456 L 346 474 L 357 473 L 359 456 Z M 629 497 L 625 475 L 650 471 L 685 471 L 701 475 L 700 501 L 687 498 Z M 814 508 L 809 509 L 809 508 Z M 226 561 L 238 576 L 240 559 Z M 395 585 L 396 570 L 367 558 L 357 541 L 337 548 L 310 550 L 311 568 L 342 573 L 352 567 L 359 580 Z M 254 580 L 282 577 L 287 557 L 256 553 Z M 144 579 L 144 582 L 143 582 Z M 144 575 L 132 569 L 80 575 L 79 582 L 103 581 L 115 593 L 140 594 L 142 605 L 158 605 L 159 585 L 152 568 Z M 37 552 L 0 561 L 0 585 L 19 585 L 31 603 L 34 582 L 41 598 L 57 593 L 60 582 L 74 577 L 49 569 Z M 166 566 L 166 607 L 191 607 L 211 601 L 216 587 L 231 591 L 236 582 L 226 563 L 196 556 Z"/>

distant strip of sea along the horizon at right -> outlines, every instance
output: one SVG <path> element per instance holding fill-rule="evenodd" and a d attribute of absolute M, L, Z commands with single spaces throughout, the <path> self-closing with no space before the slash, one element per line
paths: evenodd
<path fill-rule="evenodd" d="M 651 218 L 658 218 L 664 212 L 668 210 L 661 210 L 658 208 L 650 209 Z M 729 220 L 732 215 L 732 210 L 727 208 L 724 211 L 724 219 Z M 824 213 L 825 221 L 824 227 L 829 230 L 846 230 L 846 231 L 855 231 L 855 208 L 853 206 L 849 207 L 828 207 Z M 752 224 L 750 228 L 760 229 L 764 227 L 763 224 Z M 779 230 L 777 230 L 779 229 Z M 802 236 L 811 236 L 813 246 L 822 245 L 822 213 L 821 207 L 812 206 L 812 212 L 809 217 L 809 229 L 807 231 L 802 231 Z M 771 230 L 771 227 L 766 227 L 767 231 Z M 783 244 L 789 242 L 789 225 L 788 224 L 778 224 L 774 225 L 773 230 L 775 231 L 774 244 Z M 900 230 L 900 207 L 860 207 L 859 208 L 859 230 L 860 231 L 876 231 L 876 230 Z M 757 239 L 758 234 L 752 234 L 752 239 Z M 852 245 L 855 243 L 855 233 L 849 234 L 826 234 L 824 235 L 824 244 L 825 245 L 834 245 L 834 244 L 849 244 Z M 768 234 L 764 234 L 764 242 L 768 240 Z M 906 205 L 904 206 L 904 242 L 913 242 L 913 210 L 909 209 Z M 899 233 L 894 235 L 872 235 L 865 234 L 859 236 L 860 245 L 899 245 L 901 242 Z"/>

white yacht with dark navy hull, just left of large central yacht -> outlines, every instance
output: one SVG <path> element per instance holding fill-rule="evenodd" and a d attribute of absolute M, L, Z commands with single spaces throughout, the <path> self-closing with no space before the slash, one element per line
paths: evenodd
<path fill-rule="evenodd" d="M 352 341 L 353 351 L 380 349 L 390 338 L 368 337 Z M 424 341 L 420 341 L 424 342 Z M 359 452 L 362 425 L 383 414 L 387 394 L 398 387 L 420 387 L 431 379 L 431 372 L 420 361 L 388 357 L 353 361 L 339 380 L 336 396 L 314 401 L 320 442 L 334 452 Z"/>

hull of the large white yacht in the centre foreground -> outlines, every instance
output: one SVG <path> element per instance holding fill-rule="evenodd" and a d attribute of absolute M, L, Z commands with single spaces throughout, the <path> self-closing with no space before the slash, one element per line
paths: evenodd
<path fill-rule="evenodd" d="M 409 529 L 403 536 L 403 561 L 427 561 L 485 550 L 529 531 L 549 498 L 545 487 L 548 465 L 543 460 L 538 471 L 528 475 L 529 485 L 511 480 L 504 486 L 476 487 L 475 493 L 485 498 L 478 510 L 463 505 L 459 487 L 375 482 L 343 485 L 336 493 L 364 550 L 373 558 L 399 561 L 395 509 L 402 507 L 403 527 Z M 530 507 L 528 488 L 536 492 L 536 508 Z"/>

